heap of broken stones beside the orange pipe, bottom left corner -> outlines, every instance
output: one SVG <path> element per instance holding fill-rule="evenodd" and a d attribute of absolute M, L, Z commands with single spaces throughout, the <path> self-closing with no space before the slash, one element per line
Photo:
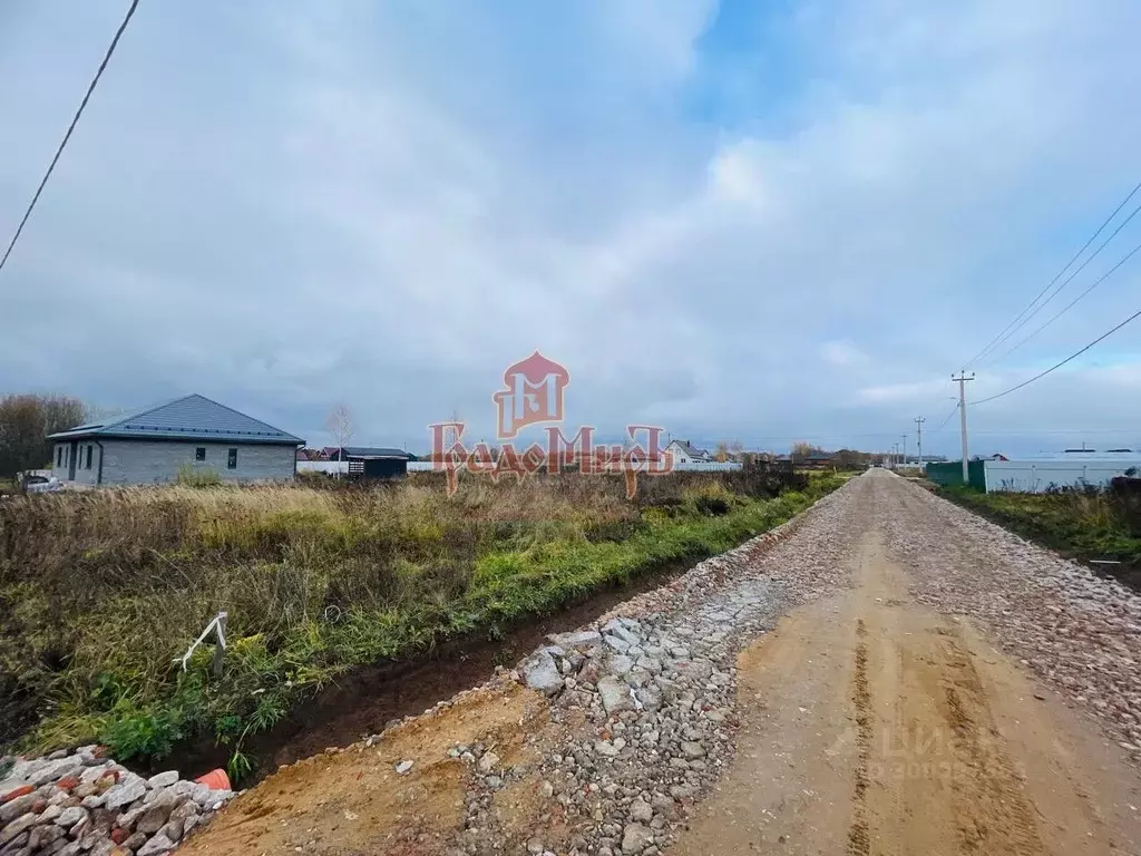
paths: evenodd
<path fill-rule="evenodd" d="M 0 761 L 0 854 L 162 856 L 233 798 L 170 770 L 143 778 L 100 746 Z"/>

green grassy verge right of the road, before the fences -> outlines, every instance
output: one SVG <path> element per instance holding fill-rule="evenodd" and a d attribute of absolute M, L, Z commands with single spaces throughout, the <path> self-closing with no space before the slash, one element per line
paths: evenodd
<path fill-rule="evenodd" d="M 1120 565 L 1099 570 L 1141 588 L 1141 496 L 1094 488 L 1047 493 L 980 493 L 963 486 L 940 487 L 940 494 L 1023 538 L 1090 562 Z"/>

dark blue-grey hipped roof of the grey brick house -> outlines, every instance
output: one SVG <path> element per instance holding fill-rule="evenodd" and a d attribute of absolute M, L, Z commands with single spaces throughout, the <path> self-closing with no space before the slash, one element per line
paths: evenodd
<path fill-rule="evenodd" d="M 222 443 L 301 445 L 280 428 L 240 413 L 202 395 L 187 395 L 104 422 L 90 422 L 52 434 L 48 439 L 119 437 L 132 439 L 203 439 Z"/>

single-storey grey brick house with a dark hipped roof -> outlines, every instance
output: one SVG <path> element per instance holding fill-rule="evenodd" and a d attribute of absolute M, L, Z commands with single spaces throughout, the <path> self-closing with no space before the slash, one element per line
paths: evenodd
<path fill-rule="evenodd" d="M 184 468 L 224 481 L 270 482 L 297 475 L 305 441 L 201 395 L 81 425 L 55 441 L 54 475 L 76 485 L 162 484 Z"/>

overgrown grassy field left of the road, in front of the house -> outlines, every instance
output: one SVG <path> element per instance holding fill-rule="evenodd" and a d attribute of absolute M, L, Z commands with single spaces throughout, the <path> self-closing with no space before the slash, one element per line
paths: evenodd
<path fill-rule="evenodd" d="M 841 479 L 428 477 L 370 490 L 162 487 L 0 503 L 0 743 L 120 759 L 242 741 L 354 667 L 495 636 L 639 572 L 728 549 Z M 228 612 L 213 646 L 176 663 Z"/>

